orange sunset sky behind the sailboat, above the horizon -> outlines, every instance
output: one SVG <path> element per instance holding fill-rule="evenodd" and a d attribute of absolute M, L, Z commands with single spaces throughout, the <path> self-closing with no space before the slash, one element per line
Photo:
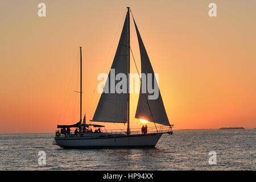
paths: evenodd
<path fill-rule="evenodd" d="M 256 127 L 255 1 L 0 1 L 0 133 L 48 133 L 79 121 L 79 46 L 83 112 L 100 94 L 131 7 L 174 129 Z M 208 16 L 210 2 L 217 17 Z M 131 22 L 131 48 L 140 68 Z M 131 59 L 131 72 L 136 69 Z M 138 94 L 131 96 L 131 127 Z M 110 127 L 126 127 L 108 124 Z M 151 125 L 150 125 L 151 126 Z"/>

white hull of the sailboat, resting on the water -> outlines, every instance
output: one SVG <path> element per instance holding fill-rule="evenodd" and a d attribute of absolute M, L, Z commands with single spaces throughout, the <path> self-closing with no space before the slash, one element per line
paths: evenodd
<path fill-rule="evenodd" d="M 146 135 L 116 135 L 113 137 L 66 137 L 55 138 L 63 148 L 111 148 L 111 147 L 155 147 L 163 133 Z"/>

